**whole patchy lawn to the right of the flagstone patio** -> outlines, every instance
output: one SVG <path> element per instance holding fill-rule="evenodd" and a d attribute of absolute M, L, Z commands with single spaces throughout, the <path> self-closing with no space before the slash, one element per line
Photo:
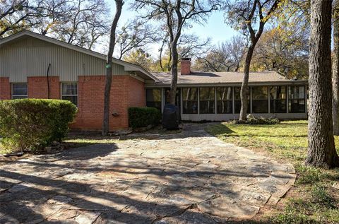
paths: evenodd
<path fill-rule="evenodd" d="M 295 186 L 258 223 L 339 223 L 339 169 L 322 170 L 304 166 L 307 155 L 307 121 L 274 125 L 215 124 L 206 128 L 227 143 L 251 148 L 283 163 L 292 163 L 297 172 Z M 339 153 L 339 138 L 335 137 Z"/>

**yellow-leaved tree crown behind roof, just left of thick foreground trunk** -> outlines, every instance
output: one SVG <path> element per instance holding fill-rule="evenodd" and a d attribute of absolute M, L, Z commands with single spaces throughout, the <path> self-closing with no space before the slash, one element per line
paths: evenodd
<path fill-rule="evenodd" d="M 272 25 L 263 32 L 251 61 L 252 71 L 278 71 L 286 78 L 308 78 L 309 29 Z"/>

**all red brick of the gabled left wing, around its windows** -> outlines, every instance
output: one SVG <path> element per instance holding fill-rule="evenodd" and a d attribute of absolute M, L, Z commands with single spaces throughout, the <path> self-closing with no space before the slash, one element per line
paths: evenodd
<path fill-rule="evenodd" d="M 49 77 L 50 98 L 59 99 L 59 77 Z M 105 76 L 78 77 L 78 114 L 73 129 L 101 130 Z M 47 77 L 28 77 L 28 98 L 47 98 Z M 9 78 L 0 78 L 0 99 L 11 99 Z M 113 76 L 110 98 L 110 130 L 129 127 L 129 107 L 145 106 L 145 86 L 131 76 Z M 119 114 L 118 117 L 112 116 Z"/>

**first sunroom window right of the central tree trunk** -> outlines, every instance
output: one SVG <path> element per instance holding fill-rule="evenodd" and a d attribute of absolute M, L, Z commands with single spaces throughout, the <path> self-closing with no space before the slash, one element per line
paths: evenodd
<path fill-rule="evenodd" d="M 198 114 L 198 88 L 182 88 L 183 114 Z"/>

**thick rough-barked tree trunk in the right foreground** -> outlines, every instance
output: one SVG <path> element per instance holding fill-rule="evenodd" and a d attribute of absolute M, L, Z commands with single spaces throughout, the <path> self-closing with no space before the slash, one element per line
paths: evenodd
<path fill-rule="evenodd" d="M 309 53 L 309 148 L 306 165 L 326 169 L 339 165 L 332 123 L 332 1 L 311 1 Z"/>

